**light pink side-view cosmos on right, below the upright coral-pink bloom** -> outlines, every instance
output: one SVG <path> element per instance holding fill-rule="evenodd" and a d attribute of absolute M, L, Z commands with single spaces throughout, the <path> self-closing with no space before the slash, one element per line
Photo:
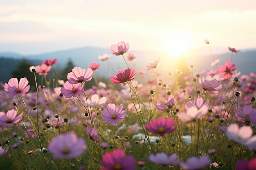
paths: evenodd
<path fill-rule="evenodd" d="M 209 75 L 207 75 L 206 78 L 199 77 L 198 82 L 204 91 L 209 91 L 214 94 L 218 94 L 218 90 L 222 88 L 222 84 L 220 84 L 215 77 Z"/>

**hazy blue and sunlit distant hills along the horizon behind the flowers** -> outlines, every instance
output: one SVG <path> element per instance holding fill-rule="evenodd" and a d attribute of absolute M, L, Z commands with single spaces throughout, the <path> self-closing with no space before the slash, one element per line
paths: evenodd
<path fill-rule="evenodd" d="M 225 49 L 226 51 L 226 49 Z M 213 59 L 210 55 L 210 52 L 207 53 L 206 49 L 200 53 L 200 49 L 194 50 L 193 53 L 186 54 L 180 57 L 178 60 L 172 57 L 168 57 L 166 53 L 161 51 L 129 51 L 136 52 L 138 57 L 134 62 L 128 63 L 130 66 L 134 67 L 136 65 L 137 70 L 144 70 L 145 66 L 150 62 L 153 62 L 157 57 L 160 57 L 160 66 L 159 69 L 164 70 L 167 66 L 167 70 L 164 70 L 165 73 L 173 72 L 180 66 L 179 69 L 188 69 L 190 64 L 195 66 L 194 72 L 200 72 L 206 69 L 214 69 L 211 66 Z M 111 54 L 109 62 L 101 62 L 98 59 L 99 55 L 104 53 L 111 54 L 109 48 L 97 48 L 97 47 L 83 47 L 77 49 L 56 51 L 52 53 L 43 53 L 40 55 L 20 55 L 17 53 L 0 53 L 0 81 L 6 82 L 10 78 L 8 74 L 13 70 L 19 60 L 23 58 L 30 60 L 34 65 L 41 64 L 43 60 L 58 58 L 58 62 L 54 65 L 54 68 L 62 69 L 70 58 L 76 66 L 82 68 L 87 68 L 88 64 L 92 62 L 101 63 L 101 67 L 97 71 L 99 76 L 108 76 L 114 75 L 118 70 L 124 70 L 126 64 L 122 56 L 114 56 Z M 214 53 L 213 53 L 214 55 Z M 220 64 L 224 64 L 227 60 L 230 60 L 232 53 L 227 51 L 227 53 L 222 53 L 214 55 L 214 59 L 220 59 Z M 256 49 L 245 49 L 239 53 L 233 54 L 232 62 L 236 64 L 237 70 L 242 74 L 249 74 L 250 72 L 256 73 Z M 218 66 L 220 65 L 218 64 Z"/>

